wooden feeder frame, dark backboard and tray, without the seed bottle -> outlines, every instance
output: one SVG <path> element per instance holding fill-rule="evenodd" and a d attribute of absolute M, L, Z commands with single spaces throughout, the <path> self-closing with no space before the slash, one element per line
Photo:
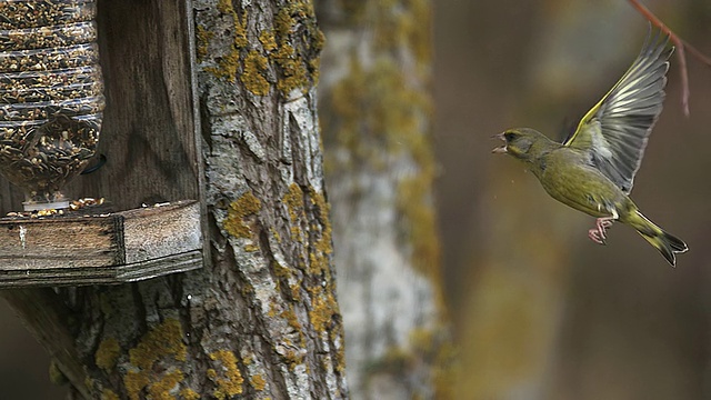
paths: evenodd
<path fill-rule="evenodd" d="M 1 218 L 0 288 L 123 283 L 208 259 L 191 3 L 98 0 L 97 24 L 107 162 L 64 192 L 111 209 Z M 0 181 L 1 216 L 22 200 Z"/>

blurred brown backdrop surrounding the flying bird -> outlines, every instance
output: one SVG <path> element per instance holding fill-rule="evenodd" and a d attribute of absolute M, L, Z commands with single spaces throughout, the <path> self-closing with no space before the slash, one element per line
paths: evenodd
<path fill-rule="evenodd" d="M 711 54 L 711 2 L 644 3 Z M 565 136 L 637 57 L 647 21 L 624 0 L 439 0 L 434 140 L 461 399 L 711 399 L 711 69 L 679 62 L 632 197 L 691 250 L 671 269 L 631 229 L 550 199 L 490 137 Z M 61 399 L 49 361 L 0 303 L 0 393 Z M 1 396 L 2 398 L 8 398 Z M 12 397 L 9 397 L 12 398 Z"/>

